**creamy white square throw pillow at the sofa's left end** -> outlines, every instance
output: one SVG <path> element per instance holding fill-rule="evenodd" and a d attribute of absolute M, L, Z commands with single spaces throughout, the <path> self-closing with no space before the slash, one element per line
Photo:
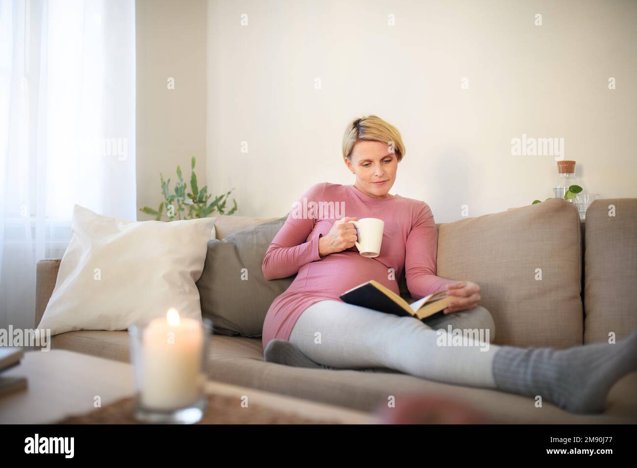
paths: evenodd
<path fill-rule="evenodd" d="M 38 328 L 126 330 L 171 307 L 201 320 L 195 283 L 216 219 L 125 221 L 75 205 L 73 238 Z"/>

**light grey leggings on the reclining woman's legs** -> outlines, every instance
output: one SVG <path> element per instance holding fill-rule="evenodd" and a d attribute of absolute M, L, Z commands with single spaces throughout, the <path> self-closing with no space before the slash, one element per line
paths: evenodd
<path fill-rule="evenodd" d="M 452 341 L 448 325 L 456 334 L 482 339 Z M 499 346 L 490 344 L 494 337 L 493 318 L 482 306 L 423 323 L 341 301 L 319 301 L 301 313 L 289 341 L 315 362 L 336 369 L 396 371 L 495 388 L 492 361 Z"/>

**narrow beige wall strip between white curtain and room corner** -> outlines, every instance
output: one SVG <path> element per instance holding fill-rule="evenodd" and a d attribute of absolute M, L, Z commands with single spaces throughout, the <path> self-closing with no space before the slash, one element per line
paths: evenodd
<path fill-rule="evenodd" d="M 206 0 L 136 0 L 137 204 L 163 201 L 159 173 L 206 178 Z M 168 79 L 175 89 L 168 89 Z M 138 212 L 138 219 L 150 216 Z"/>

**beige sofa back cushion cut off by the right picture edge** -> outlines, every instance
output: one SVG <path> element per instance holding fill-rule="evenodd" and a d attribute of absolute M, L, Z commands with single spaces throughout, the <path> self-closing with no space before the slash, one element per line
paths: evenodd
<path fill-rule="evenodd" d="M 596 200 L 586 211 L 584 343 L 637 327 L 637 199 Z"/>

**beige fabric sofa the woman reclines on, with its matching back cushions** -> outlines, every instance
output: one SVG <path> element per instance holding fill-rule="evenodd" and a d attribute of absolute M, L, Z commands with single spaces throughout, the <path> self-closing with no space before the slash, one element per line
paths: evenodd
<path fill-rule="evenodd" d="M 265 221 L 219 216 L 217 238 Z M 606 340 L 609 333 L 621 339 L 637 326 L 637 199 L 595 201 L 585 223 L 573 204 L 551 199 L 437 227 L 437 274 L 481 286 L 481 304 L 496 323 L 494 344 L 567 348 Z M 38 263 L 36 327 L 59 264 Z M 400 285 L 408 294 L 404 277 Z M 267 310 L 269 304 L 262 305 Z M 389 395 L 421 392 L 474 406 L 494 423 L 637 422 L 637 372 L 612 387 L 604 413 L 576 415 L 548 401 L 536 408 L 529 397 L 400 372 L 273 364 L 263 360 L 261 337 L 210 339 L 213 379 L 363 411 L 386 405 Z M 128 340 L 125 330 L 74 331 L 54 336 L 52 348 L 127 361 Z"/>

